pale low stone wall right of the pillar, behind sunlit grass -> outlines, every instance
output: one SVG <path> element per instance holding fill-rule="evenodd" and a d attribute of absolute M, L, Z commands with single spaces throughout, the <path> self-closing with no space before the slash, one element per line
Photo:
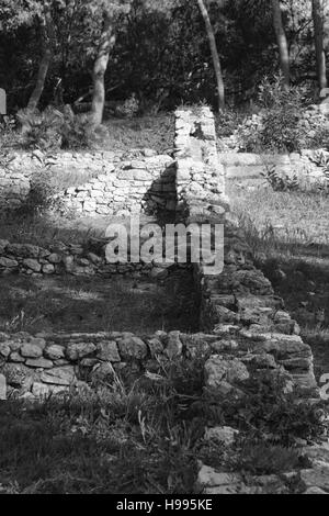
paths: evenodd
<path fill-rule="evenodd" d="M 300 154 L 248 154 L 220 153 L 219 160 L 227 180 L 250 181 L 253 184 L 264 182 L 262 173 L 275 170 L 280 176 L 296 177 L 303 188 L 316 188 L 327 184 L 324 170 L 313 160 L 324 150 L 302 150 Z"/>

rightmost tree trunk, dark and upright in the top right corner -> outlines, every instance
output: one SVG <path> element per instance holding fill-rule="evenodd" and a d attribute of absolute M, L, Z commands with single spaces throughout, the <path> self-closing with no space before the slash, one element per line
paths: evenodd
<path fill-rule="evenodd" d="M 327 67 L 326 67 L 326 53 L 324 45 L 324 9 L 320 0 L 311 0 L 313 22 L 314 22 L 314 38 L 316 46 L 317 59 L 317 77 L 319 88 L 322 90 L 327 88 Z"/>

